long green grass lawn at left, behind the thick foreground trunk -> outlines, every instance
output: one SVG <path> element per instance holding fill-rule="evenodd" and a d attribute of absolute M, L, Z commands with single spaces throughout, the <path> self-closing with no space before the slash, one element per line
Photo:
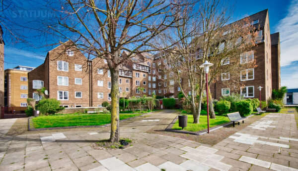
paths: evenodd
<path fill-rule="evenodd" d="M 120 114 L 120 120 L 141 114 Z M 111 114 L 40 116 L 32 119 L 35 128 L 100 126 L 111 123 Z"/>

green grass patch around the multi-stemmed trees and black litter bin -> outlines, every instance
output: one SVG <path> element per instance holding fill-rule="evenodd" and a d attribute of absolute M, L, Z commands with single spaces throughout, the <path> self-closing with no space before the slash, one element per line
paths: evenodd
<path fill-rule="evenodd" d="M 193 124 L 194 122 L 193 116 L 187 115 L 187 127 L 185 127 L 184 130 L 199 131 L 199 130 L 207 129 L 207 115 L 201 115 L 199 121 L 200 121 L 200 124 Z M 216 116 L 216 119 L 209 119 L 210 128 L 224 123 L 228 123 L 228 122 L 230 121 L 226 116 Z M 178 120 L 173 125 L 172 129 L 177 129 L 177 130 L 182 129 L 181 127 L 179 127 Z"/>

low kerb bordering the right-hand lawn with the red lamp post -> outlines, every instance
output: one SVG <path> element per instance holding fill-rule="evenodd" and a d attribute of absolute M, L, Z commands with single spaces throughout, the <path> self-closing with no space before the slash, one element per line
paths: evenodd
<path fill-rule="evenodd" d="M 183 115 L 185 115 L 185 114 L 183 114 Z M 251 114 L 251 115 L 247 116 L 246 118 L 252 117 L 254 115 L 255 114 Z M 178 115 L 169 124 L 169 126 L 167 128 L 165 128 L 164 130 L 165 131 L 168 131 L 168 132 L 186 133 L 186 134 L 192 134 L 192 135 L 204 135 L 205 133 L 208 132 L 208 129 L 203 129 L 203 130 L 199 130 L 199 131 L 188 131 L 188 130 L 176 130 L 176 129 L 172 129 L 173 125 L 176 123 L 177 120 L 178 120 Z M 217 126 L 211 127 L 211 128 L 209 128 L 209 132 L 214 131 L 214 130 L 219 129 L 219 128 L 223 128 L 223 127 L 228 126 L 228 125 L 231 125 L 231 124 L 233 124 L 233 122 L 228 122 L 228 123 L 224 123 L 224 124 L 221 124 L 221 125 L 217 125 Z"/>

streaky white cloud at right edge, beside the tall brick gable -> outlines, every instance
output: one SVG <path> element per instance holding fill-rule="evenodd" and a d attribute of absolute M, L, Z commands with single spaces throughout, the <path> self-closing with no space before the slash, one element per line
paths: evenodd
<path fill-rule="evenodd" d="M 298 0 L 291 2 L 288 14 L 277 25 L 275 32 L 280 32 L 281 66 L 291 65 L 298 61 Z"/>

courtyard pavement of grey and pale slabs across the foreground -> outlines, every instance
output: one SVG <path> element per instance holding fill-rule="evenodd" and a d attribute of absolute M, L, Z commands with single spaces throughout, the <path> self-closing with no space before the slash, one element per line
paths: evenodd
<path fill-rule="evenodd" d="M 121 137 L 134 144 L 110 150 L 90 147 L 108 139 L 109 128 L 4 136 L 15 120 L 0 120 L 0 171 L 298 171 L 294 114 L 268 114 L 214 146 L 146 133 L 176 115 L 164 110 L 122 122 Z"/>

